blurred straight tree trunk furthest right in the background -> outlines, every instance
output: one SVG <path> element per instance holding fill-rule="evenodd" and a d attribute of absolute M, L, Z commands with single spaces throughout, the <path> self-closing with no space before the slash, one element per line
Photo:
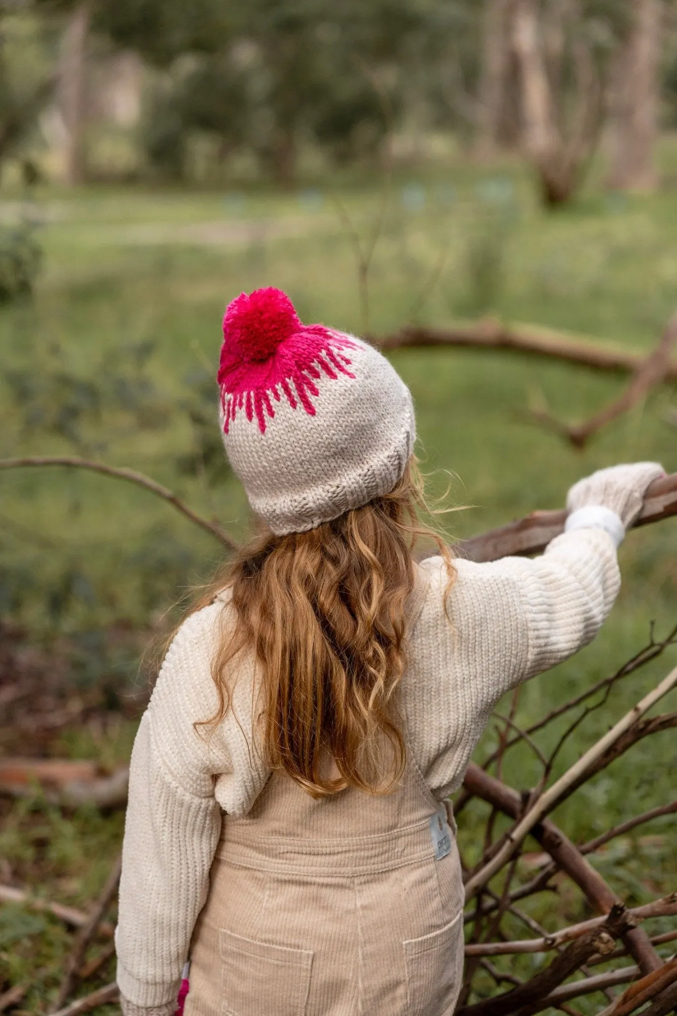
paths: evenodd
<path fill-rule="evenodd" d="M 615 59 L 611 172 L 618 190 L 652 191 L 657 184 L 661 0 L 631 0 L 632 24 Z"/>

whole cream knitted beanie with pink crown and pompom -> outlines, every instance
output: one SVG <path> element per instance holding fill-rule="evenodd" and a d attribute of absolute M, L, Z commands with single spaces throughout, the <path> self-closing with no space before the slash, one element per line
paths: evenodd
<path fill-rule="evenodd" d="M 304 325 L 280 290 L 223 317 L 223 444 L 273 532 L 304 532 L 388 494 L 413 450 L 409 389 L 354 335 Z"/>

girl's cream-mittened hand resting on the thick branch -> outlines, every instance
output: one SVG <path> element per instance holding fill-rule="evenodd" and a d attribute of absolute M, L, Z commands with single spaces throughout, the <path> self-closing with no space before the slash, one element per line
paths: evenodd
<path fill-rule="evenodd" d="M 566 508 L 569 512 L 592 505 L 608 508 L 618 515 L 627 529 L 641 511 L 649 485 L 664 475 L 665 469 L 659 462 L 633 462 L 598 469 L 573 485 L 566 497 Z"/>

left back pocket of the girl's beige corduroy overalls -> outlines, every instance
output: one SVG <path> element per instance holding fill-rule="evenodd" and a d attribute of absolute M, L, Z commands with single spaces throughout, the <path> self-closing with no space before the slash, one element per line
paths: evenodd
<path fill-rule="evenodd" d="M 219 932 L 221 1016 L 304 1016 L 313 951 Z"/>

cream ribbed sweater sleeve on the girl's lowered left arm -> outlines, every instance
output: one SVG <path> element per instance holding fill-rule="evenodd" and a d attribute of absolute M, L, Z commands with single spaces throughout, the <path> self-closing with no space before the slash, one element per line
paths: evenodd
<path fill-rule="evenodd" d="M 182 625 L 134 743 L 116 931 L 123 1008 L 161 1010 L 176 1001 L 221 808 L 247 812 L 267 777 L 252 743 L 247 669 L 234 685 L 236 715 L 211 736 L 193 725 L 217 707 L 211 660 L 224 610 L 217 601 Z"/>

